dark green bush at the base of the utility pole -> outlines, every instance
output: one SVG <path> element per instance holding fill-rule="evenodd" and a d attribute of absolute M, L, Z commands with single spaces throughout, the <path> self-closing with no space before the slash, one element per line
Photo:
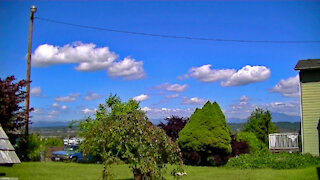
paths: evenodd
<path fill-rule="evenodd" d="M 39 161 L 42 151 L 44 151 L 44 146 L 38 133 L 29 134 L 27 141 L 21 138 L 17 143 L 17 154 L 22 161 Z"/>

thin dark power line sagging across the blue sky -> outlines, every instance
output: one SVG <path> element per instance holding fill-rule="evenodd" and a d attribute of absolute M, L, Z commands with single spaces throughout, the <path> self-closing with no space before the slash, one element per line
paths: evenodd
<path fill-rule="evenodd" d="M 152 36 L 152 37 L 161 37 L 161 38 L 171 38 L 171 39 L 186 39 L 186 40 L 200 40 L 200 41 L 216 41 L 216 42 L 235 42 L 235 43 L 282 43 L 282 44 L 296 44 L 296 43 L 320 43 L 320 41 L 279 41 L 279 40 L 238 40 L 238 39 L 219 39 L 219 38 L 202 38 L 202 37 L 191 37 L 191 36 L 176 36 L 176 35 L 167 35 L 167 34 L 153 34 L 153 33 L 144 33 L 144 32 L 135 32 L 135 31 L 124 31 L 124 30 L 117 30 L 117 29 L 109 29 L 109 28 L 102 28 L 96 26 L 88 26 L 88 25 L 81 25 L 81 24 L 74 24 L 68 23 L 63 21 L 57 21 L 54 19 L 42 18 L 42 17 L 35 17 L 35 19 L 56 23 L 56 24 L 63 24 L 68 26 L 86 28 L 86 29 L 94 29 L 99 31 L 108 31 L 108 32 L 116 32 L 116 33 L 124 33 L 124 34 L 133 34 L 133 35 L 142 35 L 142 36 Z"/>

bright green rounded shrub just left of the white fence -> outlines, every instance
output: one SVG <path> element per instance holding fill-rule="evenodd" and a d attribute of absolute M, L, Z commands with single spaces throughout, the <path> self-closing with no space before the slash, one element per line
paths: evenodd
<path fill-rule="evenodd" d="M 267 152 L 268 147 L 252 132 L 240 132 L 236 135 L 236 141 L 246 142 L 250 147 L 250 153 L 256 154 L 260 152 Z"/>

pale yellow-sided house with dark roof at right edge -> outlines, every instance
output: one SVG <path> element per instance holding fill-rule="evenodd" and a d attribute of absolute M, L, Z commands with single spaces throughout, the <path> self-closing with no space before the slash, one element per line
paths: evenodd
<path fill-rule="evenodd" d="M 300 60 L 302 153 L 320 154 L 320 59 Z"/>

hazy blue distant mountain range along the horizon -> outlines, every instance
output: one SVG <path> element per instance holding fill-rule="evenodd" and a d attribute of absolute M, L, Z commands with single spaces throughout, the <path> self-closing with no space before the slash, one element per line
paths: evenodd
<path fill-rule="evenodd" d="M 300 116 L 289 116 L 283 113 L 271 112 L 273 122 L 300 122 Z M 163 119 L 150 119 L 153 124 L 159 124 Z M 247 119 L 228 118 L 228 123 L 245 123 Z M 38 121 L 34 122 L 31 127 L 66 127 L 69 121 Z"/>

